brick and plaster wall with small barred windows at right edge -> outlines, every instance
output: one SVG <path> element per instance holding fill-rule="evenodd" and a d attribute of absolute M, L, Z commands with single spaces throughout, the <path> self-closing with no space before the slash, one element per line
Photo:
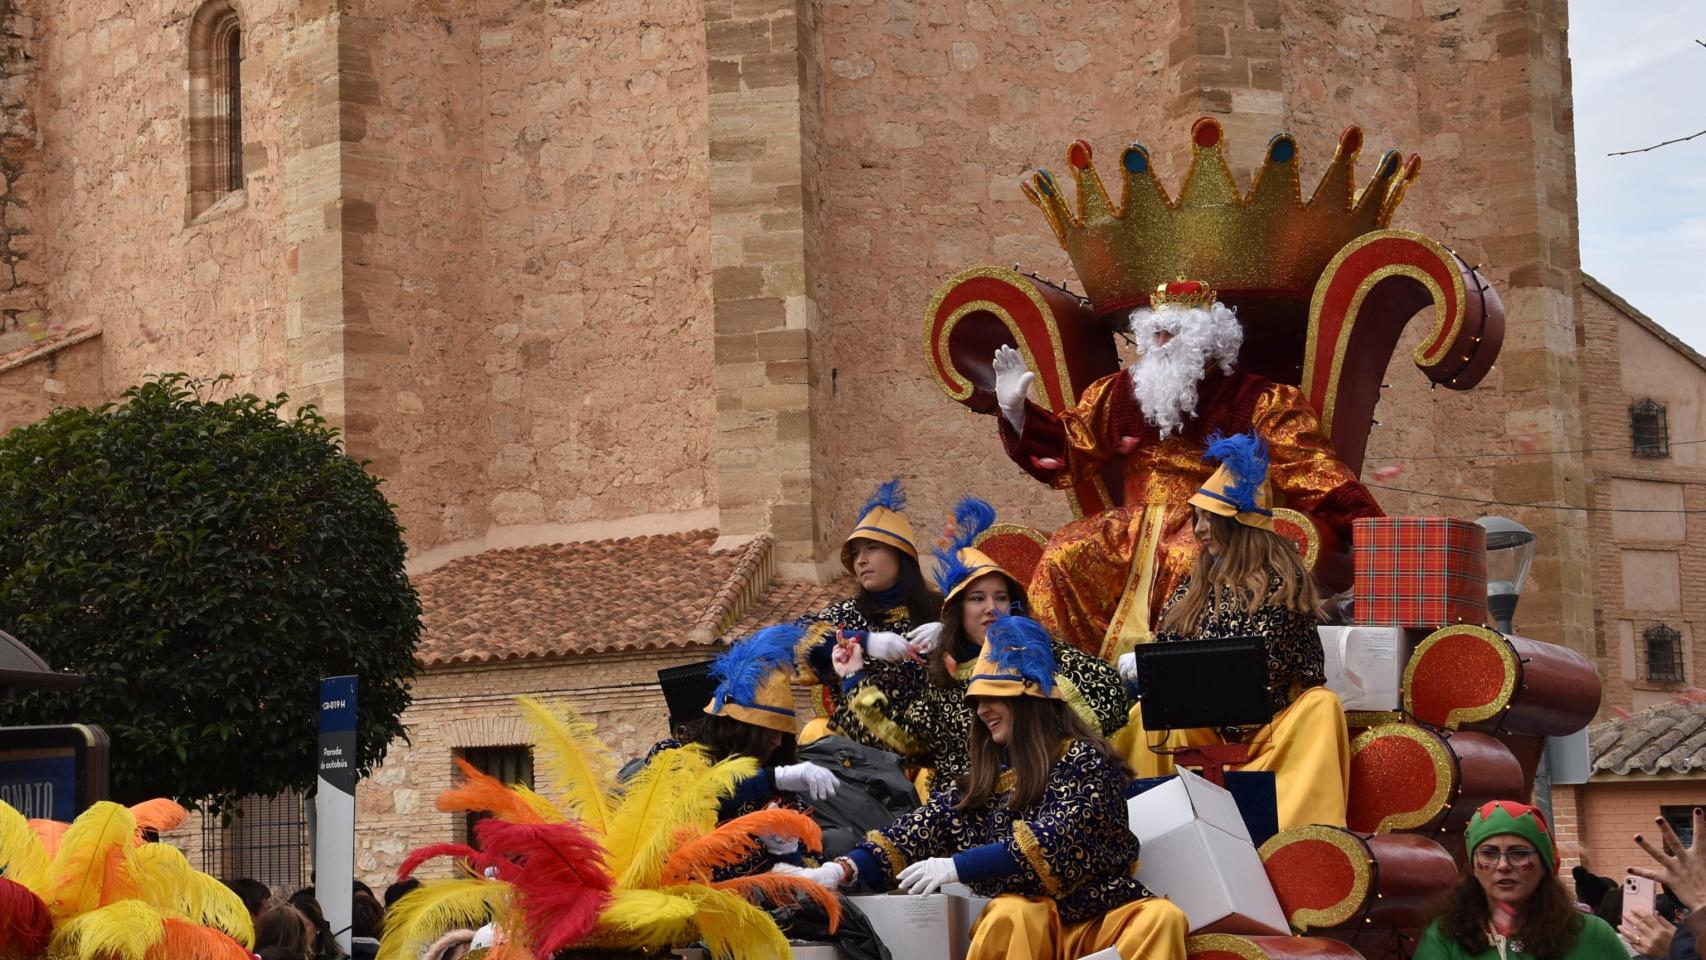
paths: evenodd
<path fill-rule="evenodd" d="M 1706 675 L 1706 542 L 1689 537 L 1692 517 L 1663 510 L 1706 510 L 1699 443 L 1706 437 L 1706 368 L 1699 355 L 1636 319 L 1634 307 L 1597 283 L 1581 292 L 1581 402 L 1593 450 L 1592 505 L 1595 624 L 1592 653 L 1605 687 L 1604 704 L 1643 709 L 1670 699 Z M 1668 457 L 1631 452 L 1629 404 L 1665 406 Z M 1641 510 L 1651 513 L 1638 513 Z M 1527 600 L 1523 600 L 1527 604 Z M 1686 679 L 1648 679 L 1643 634 L 1665 624 L 1682 634 Z"/>

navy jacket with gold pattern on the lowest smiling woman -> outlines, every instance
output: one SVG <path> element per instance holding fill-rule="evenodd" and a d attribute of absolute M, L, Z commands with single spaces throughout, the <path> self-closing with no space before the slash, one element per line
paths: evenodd
<path fill-rule="evenodd" d="M 850 854 L 860 882 L 889 887 L 908 863 L 952 856 L 959 880 L 984 897 L 1053 897 L 1061 922 L 1083 922 L 1148 897 L 1131 873 L 1138 837 L 1126 825 L 1126 772 L 1085 740 L 1073 740 L 1049 769 L 1042 798 L 1012 812 L 1010 772 L 986 807 L 959 812 L 959 788 L 930 801 Z"/>

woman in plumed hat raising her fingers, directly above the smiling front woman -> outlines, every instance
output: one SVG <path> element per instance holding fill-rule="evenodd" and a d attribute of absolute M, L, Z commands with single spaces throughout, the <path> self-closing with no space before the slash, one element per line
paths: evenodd
<path fill-rule="evenodd" d="M 952 783 L 971 769 L 966 752 L 972 711 L 966 703 L 978 655 L 989 626 L 1025 609 L 1018 578 L 974 547 L 995 523 L 995 508 L 966 496 L 954 508 L 952 539 L 935 549 L 937 588 L 942 590 L 942 619 L 937 629 L 914 631 L 928 646 L 925 689 L 896 718 L 902 754 L 930 769 L 930 783 Z M 1082 650 L 1053 641 L 1056 682 L 1063 699 L 1090 730 L 1112 737 L 1126 725 L 1131 701 L 1112 665 Z M 838 663 L 841 668 L 841 663 Z M 853 675 L 858 684 L 862 675 Z M 851 699 L 860 701 L 855 689 Z"/>

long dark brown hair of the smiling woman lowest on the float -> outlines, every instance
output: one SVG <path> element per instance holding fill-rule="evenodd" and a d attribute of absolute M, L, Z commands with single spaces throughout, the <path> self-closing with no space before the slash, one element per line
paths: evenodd
<path fill-rule="evenodd" d="M 1114 745 L 1090 730 L 1066 701 L 1020 696 L 1007 697 L 1007 703 L 1013 706 L 1007 747 L 991 740 L 989 728 L 972 720 L 971 737 L 966 742 L 971 771 L 959 778 L 960 801 L 955 810 L 972 810 L 989 803 L 1003 764 L 1013 771 L 1013 795 L 1007 798 L 1007 808 L 1012 812 L 1030 808 L 1042 798 L 1061 742 L 1068 740 L 1087 740 L 1107 762 L 1131 776 Z"/>

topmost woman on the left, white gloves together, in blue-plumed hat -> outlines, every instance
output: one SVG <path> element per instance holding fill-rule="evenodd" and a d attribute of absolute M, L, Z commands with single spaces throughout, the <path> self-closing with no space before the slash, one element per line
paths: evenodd
<path fill-rule="evenodd" d="M 839 733 L 879 750 L 906 752 L 894 716 L 925 689 L 923 662 L 908 634 L 935 622 L 942 599 L 925 580 L 918 537 L 902 510 L 899 479 L 877 488 L 841 546 L 841 566 L 858 581 L 858 593 L 797 621 L 804 627 L 795 645 L 798 682 L 824 684 L 833 704 L 827 720 L 814 720 L 800 732 L 802 743 Z M 836 646 L 858 648 L 867 663 L 868 684 L 858 699 L 853 685 L 836 675 Z"/>

